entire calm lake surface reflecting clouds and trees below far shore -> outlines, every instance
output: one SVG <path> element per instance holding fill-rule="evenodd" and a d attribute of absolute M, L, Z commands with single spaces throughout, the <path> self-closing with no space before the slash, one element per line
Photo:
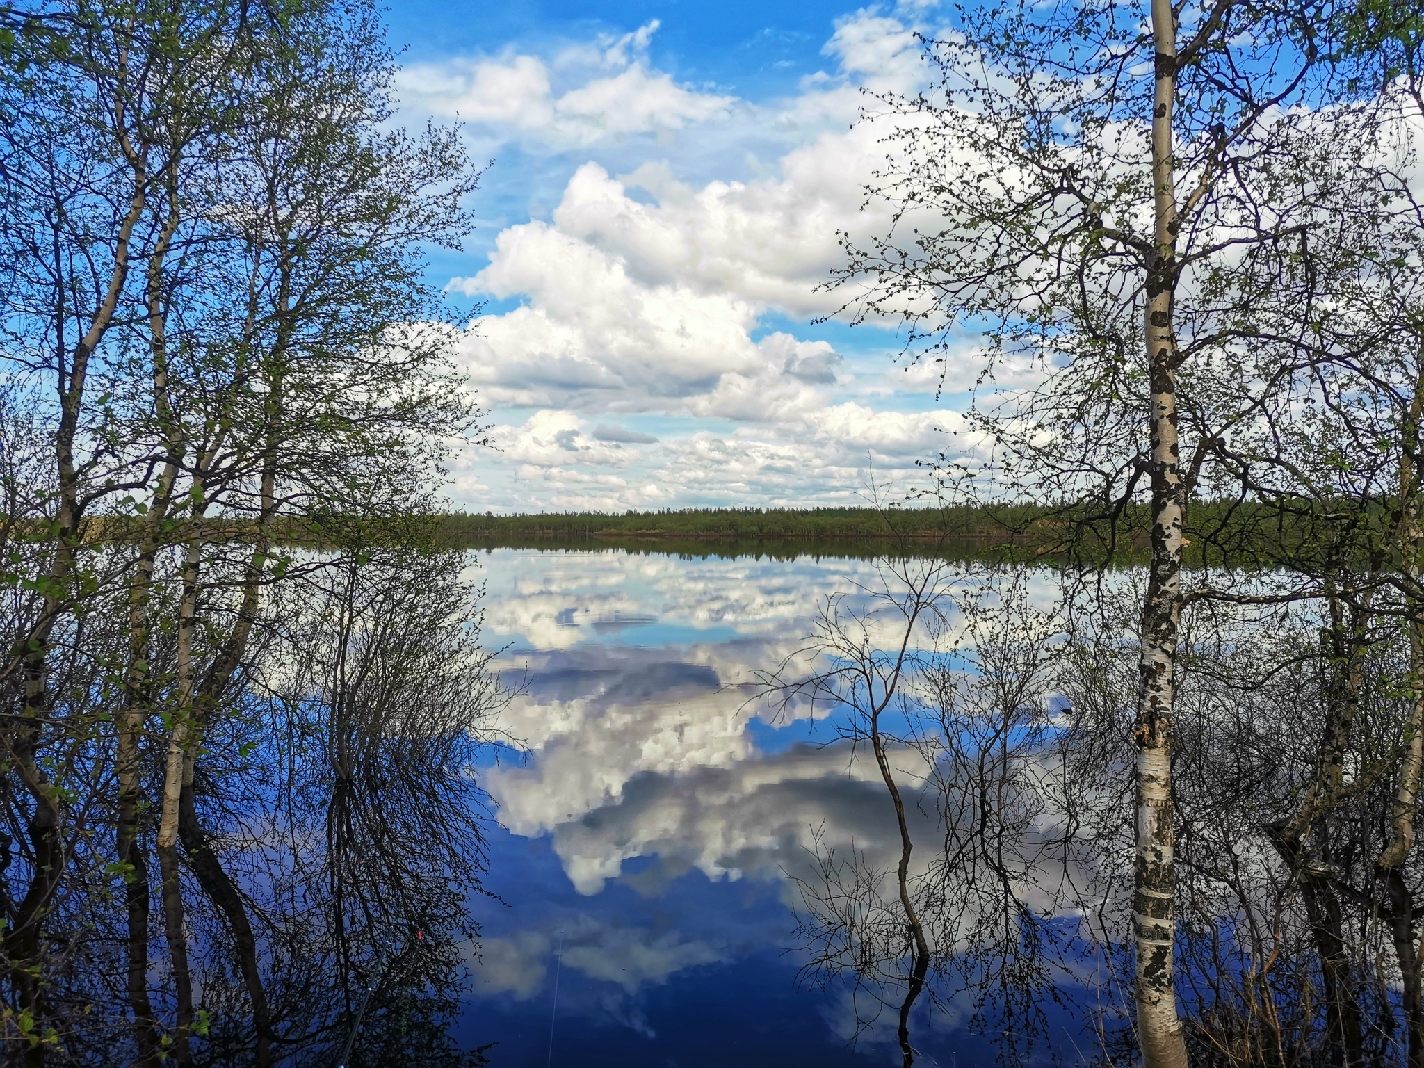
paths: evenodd
<path fill-rule="evenodd" d="M 1091 575 L 1079 608 L 1048 568 L 353 543 L 273 584 L 241 675 L 201 674 L 222 682 L 202 684 L 191 760 L 171 688 L 97 674 L 132 649 L 122 588 L 57 662 L 70 733 L 46 746 L 68 745 L 56 768 L 95 816 L 66 824 L 58 883 L 34 850 L 61 839 L 0 836 L 9 990 L 40 1004 L 14 963 L 47 968 L 41 1007 L 68 1028 L 53 1062 L 157 1064 L 188 1020 L 194 1064 L 343 1045 L 353 1065 L 1131 1062 L 1141 574 Z M 241 582 L 241 558 L 224 574 Z M 1421 874 L 1417 850 L 1377 859 L 1417 738 L 1418 691 L 1397 685 L 1415 646 L 1397 627 L 1321 642 L 1330 619 L 1269 598 L 1189 622 L 1193 1062 L 1403 1062 L 1417 1001 L 1394 961 L 1415 960 Z M 1337 655 L 1346 639 L 1361 651 Z M 172 644 L 151 645 L 174 678 Z M 913 685 L 887 702 L 897 649 Z M 775 679 L 819 682 L 768 705 Z M 115 719 L 118 701 L 142 715 Z M 1323 765 L 1346 712 L 1349 760 Z M 115 799 L 110 740 L 142 758 L 132 796 L 175 787 L 182 880 L 112 866 L 115 823 L 138 857 L 162 824 Z M 1331 776 L 1349 789 L 1312 792 Z M 13 826 L 43 816 L 9 797 Z"/>

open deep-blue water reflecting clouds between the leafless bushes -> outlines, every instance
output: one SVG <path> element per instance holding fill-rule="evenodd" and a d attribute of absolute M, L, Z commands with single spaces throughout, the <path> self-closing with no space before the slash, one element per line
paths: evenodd
<path fill-rule="evenodd" d="M 797 983 L 787 879 L 816 836 L 893 864 L 884 786 L 826 722 L 755 701 L 755 672 L 873 564 L 533 550 L 480 564 L 487 639 L 525 692 L 481 770 L 493 897 L 476 904 L 459 1037 L 511 1067 L 899 1064 L 893 1010 Z M 918 1064 L 994 1062 L 964 1015 L 917 1008 Z M 1061 1024 L 1059 1054 L 1077 1038 Z"/>

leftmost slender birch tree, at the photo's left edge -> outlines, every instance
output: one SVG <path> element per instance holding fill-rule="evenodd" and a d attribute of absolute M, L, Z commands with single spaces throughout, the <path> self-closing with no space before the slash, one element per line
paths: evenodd
<path fill-rule="evenodd" d="M 71 790 L 37 759 L 60 740 L 40 726 L 53 723 L 48 661 L 58 635 L 75 641 L 85 602 L 118 578 L 95 570 L 105 557 L 87 547 L 85 527 L 145 477 L 147 443 L 114 433 L 115 393 L 127 393 L 128 382 L 125 337 L 142 315 L 145 278 L 157 296 L 152 282 L 178 222 L 177 184 L 189 169 L 189 150 L 222 122 L 242 38 L 238 9 L 222 4 L 127 13 L 71 6 L 47 17 L 63 33 L 46 36 L 23 67 L 6 71 L 0 124 L 10 208 L 6 372 L 41 419 L 54 417 L 46 427 L 54 457 L 50 535 L 43 571 L 30 580 L 44 598 L 13 634 L 6 669 L 24 693 L 20 713 L 6 722 L 6 760 L 34 799 L 33 879 L 4 937 L 21 1018 L 38 1015 L 41 930 L 66 874 L 66 834 L 77 826 L 66 812 Z M 161 382 L 161 335 L 151 352 Z M 31 1061 L 43 1057 L 43 1042 L 27 1051 Z"/>

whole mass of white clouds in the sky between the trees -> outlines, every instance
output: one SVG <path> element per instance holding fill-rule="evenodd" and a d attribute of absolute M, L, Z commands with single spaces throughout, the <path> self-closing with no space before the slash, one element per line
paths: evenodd
<path fill-rule="evenodd" d="M 973 359 L 946 365 L 943 376 L 866 375 L 786 322 L 834 318 L 854 296 L 826 286 L 843 262 L 837 235 L 889 226 L 883 206 L 867 206 L 864 185 L 893 120 L 853 120 L 862 87 L 923 81 L 913 9 L 837 20 L 823 50 L 833 73 L 789 100 L 735 104 L 736 122 L 783 138 L 785 151 L 758 165 L 758 177 L 692 184 L 655 154 L 621 175 L 607 158 L 587 159 L 547 218 L 504 228 L 481 269 L 450 281 L 453 290 L 504 303 L 463 332 L 457 352 L 504 424 L 501 463 L 515 477 L 504 483 L 503 507 L 847 504 L 869 466 L 877 478 L 913 481 L 916 461 L 948 446 L 940 431 L 957 429 L 958 416 L 881 397 L 933 394 L 941 377 L 954 393 L 973 379 Z M 459 104 L 481 122 L 544 131 L 565 148 L 592 147 L 619 122 L 652 130 L 731 117 L 729 98 L 649 66 L 655 28 L 548 58 L 511 53 L 419 68 L 403 93 L 447 111 Z M 783 316 L 770 332 L 769 315 Z M 896 346 L 887 347 L 889 365 Z M 1014 386 L 1024 376 L 1010 377 Z M 654 439 L 609 419 L 625 413 L 682 426 L 664 422 Z"/>

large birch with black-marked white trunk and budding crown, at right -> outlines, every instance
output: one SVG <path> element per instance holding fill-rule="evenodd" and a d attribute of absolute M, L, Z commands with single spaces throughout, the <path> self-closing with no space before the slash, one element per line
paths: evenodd
<path fill-rule="evenodd" d="M 1079 501 L 1109 545 L 1138 503 L 1146 517 L 1132 941 L 1152 1068 L 1186 1062 L 1173 703 L 1183 604 L 1216 595 L 1183 587 L 1188 508 L 1293 369 L 1284 318 L 1255 309 L 1286 299 L 1283 262 L 1367 151 L 1354 112 L 1316 118 L 1336 103 L 1326 26 L 1233 0 L 958 9 L 927 43 L 933 87 L 879 101 L 894 131 L 869 192 L 893 225 L 847 239 L 839 279 L 859 320 L 907 326 L 910 359 L 977 362 L 991 451 L 965 466 L 951 444 L 948 464 L 998 497 Z M 1294 315 L 1303 329 L 1312 306 Z M 1035 384 L 997 390 L 1008 365 Z"/>

